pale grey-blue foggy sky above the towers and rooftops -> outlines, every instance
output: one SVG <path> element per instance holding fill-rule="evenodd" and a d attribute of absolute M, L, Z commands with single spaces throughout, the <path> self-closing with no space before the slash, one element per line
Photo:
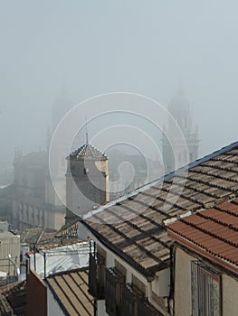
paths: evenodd
<path fill-rule="evenodd" d="M 62 83 L 77 104 L 129 91 L 167 105 L 182 85 L 200 155 L 237 140 L 237 1 L 0 1 L 1 161 L 44 145 Z"/>

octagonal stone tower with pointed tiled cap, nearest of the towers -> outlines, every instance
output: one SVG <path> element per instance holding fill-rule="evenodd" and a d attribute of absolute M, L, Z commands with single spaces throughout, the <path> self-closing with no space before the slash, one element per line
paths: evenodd
<path fill-rule="evenodd" d="M 67 158 L 66 223 L 109 201 L 108 156 L 83 144 Z"/>

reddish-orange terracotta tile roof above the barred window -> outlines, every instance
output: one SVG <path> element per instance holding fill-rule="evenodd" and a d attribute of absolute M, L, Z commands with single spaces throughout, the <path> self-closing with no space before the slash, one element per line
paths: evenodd
<path fill-rule="evenodd" d="M 167 225 L 178 243 L 238 274 L 238 199 Z"/>

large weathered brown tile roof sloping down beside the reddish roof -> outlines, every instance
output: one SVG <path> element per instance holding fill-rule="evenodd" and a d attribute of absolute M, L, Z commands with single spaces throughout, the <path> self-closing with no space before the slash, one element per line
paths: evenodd
<path fill-rule="evenodd" d="M 167 237 L 163 219 L 183 210 L 207 208 L 215 200 L 238 191 L 238 142 L 190 163 L 187 174 L 186 169 L 181 168 L 91 211 L 81 221 L 102 244 L 141 274 L 153 275 L 169 263 L 172 240 Z M 186 183 L 180 194 L 177 190 L 183 180 Z M 167 199 L 169 192 L 172 198 L 177 198 L 176 202 Z M 125 220 L 131 214 L 135 217 Z M 112 224 L 108 224 L 109 220 Z"/>

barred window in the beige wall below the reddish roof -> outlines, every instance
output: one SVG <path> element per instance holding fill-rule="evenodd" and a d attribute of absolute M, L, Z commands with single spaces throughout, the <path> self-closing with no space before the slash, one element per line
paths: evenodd
<path fill-rule="evenodd" d="M 199 261 L 191 263 L 193 316 L 221 316 L 221 275 Z"/>

